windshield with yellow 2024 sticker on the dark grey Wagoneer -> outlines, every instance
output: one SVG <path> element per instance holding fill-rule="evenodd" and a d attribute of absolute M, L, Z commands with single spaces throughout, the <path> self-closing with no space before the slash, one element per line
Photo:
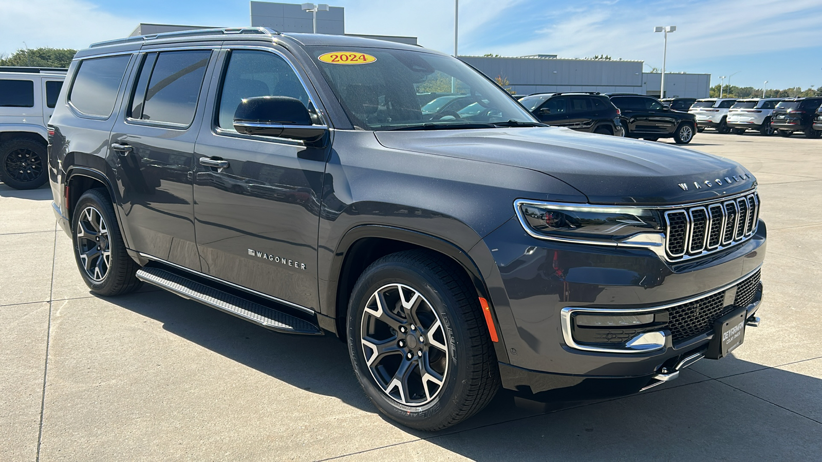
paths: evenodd
<path fill-rule="evenodd" d="M 361 130 L 538 123 L 505 90 L 450 56 L 403 49 L 307 48 Z M 431 93 L 450 95 L 421 104 L 419 95 Z"/>

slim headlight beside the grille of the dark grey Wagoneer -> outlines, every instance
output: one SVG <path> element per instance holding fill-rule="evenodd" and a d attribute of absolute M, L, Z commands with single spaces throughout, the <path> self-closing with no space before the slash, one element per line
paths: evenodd
<path fill-rule="evenodd" d="M 530 233 L 571 240 L 621 240 L 637 233 L 661 233 L 658 210 L 516 201 L 517 215 Z"/>

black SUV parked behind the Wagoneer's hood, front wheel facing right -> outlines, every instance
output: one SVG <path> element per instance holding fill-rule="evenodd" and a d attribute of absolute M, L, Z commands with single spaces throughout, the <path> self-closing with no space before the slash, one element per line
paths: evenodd
<path fill-rule="evenodd" d="M 680 145 L 694 139 L 696 118 L 693 114 L 674 111 L 651 96 L 612 93 L 608 97 L 621 112 L 625 136 L 647 141 L 673 138 Z"/>

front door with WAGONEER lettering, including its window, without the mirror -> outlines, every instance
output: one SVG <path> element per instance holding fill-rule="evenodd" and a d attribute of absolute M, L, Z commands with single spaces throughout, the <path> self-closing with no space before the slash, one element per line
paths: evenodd
<path fill-rule="evenodd" d="M 195 150 L 194 212 L 202 270 L 316 309 L 325 151 L 233 129 L 234 111 L 244 98 L 290 96 L 309 109 L 312 103 L 284 55 L 273 49 L 223 53 L 224 71 L 213 78 L 217 91 Z"/>

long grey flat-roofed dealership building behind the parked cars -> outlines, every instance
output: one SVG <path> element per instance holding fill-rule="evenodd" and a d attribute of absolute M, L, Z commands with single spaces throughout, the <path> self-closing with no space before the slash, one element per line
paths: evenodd
<path fill-rule="evenodd" d="M 314 30 L 314 13 L 301 4 L 250 2 L 251 25 L 270 27 L 280 32 Z M 141 24 L 132 35 L 151 35 L 173 30 L 201 29 L 196 25 Z M 345 8 L 327 7 L 316 12 L 318 34 L 354 35 L 418 44 L 416 37 L 395 35 L 361 35 L 345 33 Z M 424 46 L 424 44 L 422 44 Z M 662 74 L 643 72 L 643 61 L 565 59 L 538 54 L 521 57 L 459 56 L 485 75 L 506 79 L 518 95 L 557 91 L 598 91 L 600 93 L 639 93 L 659 95 Z M 665 96 L 707 98 L 710 74 L 665 74 Z"/>

